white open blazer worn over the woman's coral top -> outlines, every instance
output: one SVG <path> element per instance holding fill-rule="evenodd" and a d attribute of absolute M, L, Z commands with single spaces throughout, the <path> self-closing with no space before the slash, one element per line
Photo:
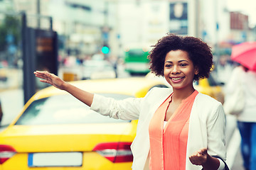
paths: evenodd
<path fill-rule="evenodd" d="M 138 120 L 137 135 L 132 142 L 134 162 L 132 169 L 144 169 L 149 154 L 149 122 L 156 109 L 172 93 L 170 88 L 153 88 L 144 98 L 115 101 L 95 94 L 91 109 L 111 118 Z M 199 93 L 193 103 L 188 128 L 186 170 L 201 170 L 188 157 L 199 149 L 208 148 L 208 154 L 225 160 L 225 114 L 223 106 L 214 98 Z"/>

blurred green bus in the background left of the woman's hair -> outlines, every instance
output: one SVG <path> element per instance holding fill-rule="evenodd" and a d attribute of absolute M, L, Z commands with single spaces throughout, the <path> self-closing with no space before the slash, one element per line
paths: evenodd
<path fill-rule="evenodd" d="M 149 48 L 132 47 L 124 50 L 124 67 L 129 74 L 149 73 Z"/>

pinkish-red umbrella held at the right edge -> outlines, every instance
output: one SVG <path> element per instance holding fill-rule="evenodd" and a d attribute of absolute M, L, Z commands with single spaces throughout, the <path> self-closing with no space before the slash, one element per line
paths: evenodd
<path fill-rule="evenodd" d="M 238 45 L 233 45 L 231 60 L 252 71 L 256 71 L 256 42 L 242 42 Z"/>

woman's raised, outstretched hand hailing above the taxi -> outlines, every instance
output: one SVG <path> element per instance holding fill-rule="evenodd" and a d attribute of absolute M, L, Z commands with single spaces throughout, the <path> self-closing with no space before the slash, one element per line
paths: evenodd
<path fill-rule="evenodd" d="M 55 74 L 41 71 L 36 71 L 34 72 L 34 74 L 36 75 L 36 77 L 40 78 L 40 81 L 43 83 L 51 84 L 61 90 L 65 89 L 65 81 L 63 81 L 63 79 L 60 79 L 60 77 L 56 76 Z"/>

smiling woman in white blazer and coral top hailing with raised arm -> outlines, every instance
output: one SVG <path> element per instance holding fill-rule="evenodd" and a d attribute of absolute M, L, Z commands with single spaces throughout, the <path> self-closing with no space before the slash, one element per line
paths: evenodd
<path fill-rule="evenodd" d="M 149 60 L 151 72 L 172 88 L 156 87 L 144 98 L 122 101 L 82 91 L 48 72 L 35 74 L 102 115 L 139 119 L 132 169 L 228 169 L 222 104 L 193 88 L 193 81 L 210 74 L 210 47 L 198 38 L 167 34 L 153 45 Z"/>

